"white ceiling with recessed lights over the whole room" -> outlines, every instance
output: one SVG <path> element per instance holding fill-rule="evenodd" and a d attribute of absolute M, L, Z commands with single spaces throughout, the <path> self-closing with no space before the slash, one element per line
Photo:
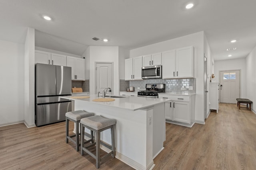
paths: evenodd
<path fill-rule="evenodd" d="M 194 8 L 186 10 L 188 2 Z M 256 46 L 255 7 L 256 0 L 0 0 L 0 39 L 24 43 L 32 27 L 36 46 L 82 55 L 89 45 L 134 49 L 205 31 L 214 60 L 243 58 Z"/>

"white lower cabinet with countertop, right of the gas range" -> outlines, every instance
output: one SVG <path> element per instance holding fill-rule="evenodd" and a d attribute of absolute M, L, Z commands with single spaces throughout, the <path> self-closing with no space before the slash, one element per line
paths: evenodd
<path fill-rule="evenodd" d="M 178 96 L 159 94 L 159 98 L 168 98 L 164 104 L 165 118 L 167 123 L 173 123 L 186 127 L 194 125 L 195 95 Z"/>

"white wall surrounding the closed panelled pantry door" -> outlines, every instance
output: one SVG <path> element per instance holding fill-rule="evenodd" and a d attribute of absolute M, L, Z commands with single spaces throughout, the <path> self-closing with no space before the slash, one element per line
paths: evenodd
<path fill-rule="evenodd" d="M 86 49 L 86 61 L 90 58 L 90 94 L 95 94 L 95 63 L 113 62 L 113 92 L 119 94 L 118 46 L 90 46 Z M 88 65 L 88 64 L 86 64 Z M 88 68 L 86 68 L 88 70 Z"/>

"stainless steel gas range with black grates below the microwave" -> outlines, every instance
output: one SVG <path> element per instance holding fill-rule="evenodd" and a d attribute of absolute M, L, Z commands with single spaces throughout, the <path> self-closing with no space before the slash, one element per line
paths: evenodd
<path fill-rule="evenodd" d="M 165 92 L 165 84 L 146 84 L 146 90 L 138 92 L 138 97 L 158 98 L 158 93 Z"/>

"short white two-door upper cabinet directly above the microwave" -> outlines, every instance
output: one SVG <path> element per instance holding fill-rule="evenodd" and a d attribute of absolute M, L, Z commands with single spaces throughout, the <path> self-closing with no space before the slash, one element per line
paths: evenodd
<path fill-rule="evenodd" d="M 154 65 L 161 65 L 161 64 L 162 64 L 161 53 L 142 56 L 142 66 L 154 66 Z"/>

